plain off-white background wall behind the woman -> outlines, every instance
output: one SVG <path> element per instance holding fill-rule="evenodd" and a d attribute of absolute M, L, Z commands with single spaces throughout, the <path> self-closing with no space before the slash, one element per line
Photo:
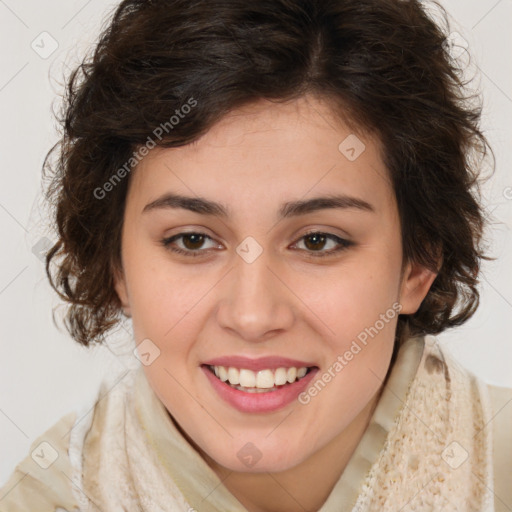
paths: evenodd
<path fill-rule="evenodd" d="M 54 326 L 51 310 L 59 301 L 32 252 L 42 237 L 53 238 L 40 207 L 41 165 L 57 141 L 52 104 L 58 110 L 63 73 L 84 55 L 116 4 L 0 0 L 0 485 L 36 437 L 91 400 L 103 376 L 134 360 L 115 355 L 123 350 L 116 339 L 129 336 L 123 328 L 109 351 L 84 349 Z M 438 338 L 485 381 L 512 387 L 512 0 L 442 4 L 453 18 L 452 31 L 468 41 L 479 68 L 482 126 L 497 157 L 484 194 L 497 260 L 484 264 L 482 303 L 474 318 Z M 44 31 L 58 43 L 46 59 L 31 47 L 33 41 L 42 47 Z M 49 44 L 46 39 L 47 50 Z"/>

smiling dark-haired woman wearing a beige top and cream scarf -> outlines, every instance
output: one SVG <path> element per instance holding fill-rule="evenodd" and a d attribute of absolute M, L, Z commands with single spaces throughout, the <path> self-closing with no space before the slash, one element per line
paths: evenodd
<path fill-rule="evenodd" d="M 415 1 L 119 5 L 68 83 L 47 270 L 77 342 L 124 314 L 142 364 L 2 510 L 512 507 L 511 391 L 434 337 L 488 259 L 447 41 Z"/>

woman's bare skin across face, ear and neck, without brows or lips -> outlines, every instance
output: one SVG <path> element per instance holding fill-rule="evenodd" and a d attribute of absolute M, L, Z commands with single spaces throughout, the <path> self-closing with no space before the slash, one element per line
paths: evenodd
<path fill-rule="evenodd" d="M 155 148 L 131 176 L 116 290 L 135 340 L 160 350 L 144 367 L 178 427 L 251 512 L 318 510 L 360 441 L 382 391 L 398 316 L 307 405 L 242 413 L 212 389 L 200 365 L 213 357 L 278 355 L 326 371 L 394 303 L 420 306 L 436 274 L 402 261 L 396 199 L 379 141 L 349 161 L 338 149 L 353 131 L 328 103 L 304 96 L 233 111 L 195 143 Z M 172 192 L 224 204 L 220 218 L 144 207 Z M 282 203 L 347 194 L 372 205 L 322 209 L 278 220 Z M 305 237 L 310 230 L 352 245 Z M 201 243 L 162 239 L 205 233 Z M 248 236 L 262 248 L 247 263 Z M 315 245 L 316 244 L 316 245 Z M 309 257 L 308 257 L 309 255 Z M 402 272 L 403 271 L 403 272 Z M 248 468 L 248 442 L 261 459 Z"/>

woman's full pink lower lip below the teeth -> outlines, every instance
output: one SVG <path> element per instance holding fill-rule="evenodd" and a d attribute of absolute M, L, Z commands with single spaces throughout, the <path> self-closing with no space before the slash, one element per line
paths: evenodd
<path fill-rule="evenodd" d="M 222 382 L 207 367 L 201 366 L 213 389 L 228 404 L 241 412 L 273 412 L 286 407 L 306 389 L 318 371 L 313 368 L 302 379 L 287 384 L 276 391 L 246 393 Z"/>

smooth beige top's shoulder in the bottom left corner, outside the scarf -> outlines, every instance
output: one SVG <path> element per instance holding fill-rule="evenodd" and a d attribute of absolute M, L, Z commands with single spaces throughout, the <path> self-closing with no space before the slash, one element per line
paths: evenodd
<path fill-rule="evenodd" d="M 78 510 L 72 492 L 70 435 L 77 412 L 70 412 L 40 435 L 29 454 L 0 488 L 2 512 Z"/>

